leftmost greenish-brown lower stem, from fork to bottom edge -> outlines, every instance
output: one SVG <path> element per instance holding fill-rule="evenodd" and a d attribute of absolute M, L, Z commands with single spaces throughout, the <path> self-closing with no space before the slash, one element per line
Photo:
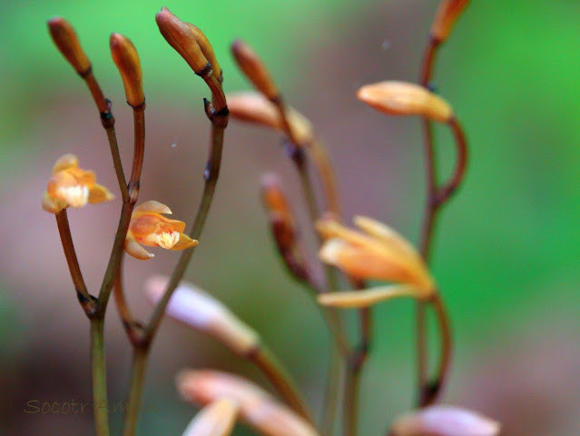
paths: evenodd
<path fill-rule="evenodd" d="M 107 380 L 104 363 L 103 318 L 91 318 L 91 368 L 93 374 L 93 415 L 97 436 L 109 436 Z"/>

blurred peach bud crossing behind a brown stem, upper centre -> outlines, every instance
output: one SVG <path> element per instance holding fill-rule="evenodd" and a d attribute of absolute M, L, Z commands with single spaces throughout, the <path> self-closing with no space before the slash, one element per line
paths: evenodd
<path fill-rule="evenodd" d="M 280 131 L 285 128 L 279 109 L 263 94 L 245 92 L 228 95 L 228 108 L 230 115 L 240 121 L 261 124 Z M 300 144 L 309 143 L 314 136 L 310 121 L 290 106 L 286 106 L 285 111 L 296 140 Z"/>

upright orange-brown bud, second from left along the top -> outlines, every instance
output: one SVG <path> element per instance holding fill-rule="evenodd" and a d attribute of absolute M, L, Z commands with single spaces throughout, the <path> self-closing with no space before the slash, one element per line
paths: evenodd
<path fill-rule="evenodd" d="M 143 75 L 139 55 L 133 43 L 121 34 L 111 34 L 109 40 L 113 62 L 123 79 L 127 103 L 137 107 L 144 103 Z"/>

